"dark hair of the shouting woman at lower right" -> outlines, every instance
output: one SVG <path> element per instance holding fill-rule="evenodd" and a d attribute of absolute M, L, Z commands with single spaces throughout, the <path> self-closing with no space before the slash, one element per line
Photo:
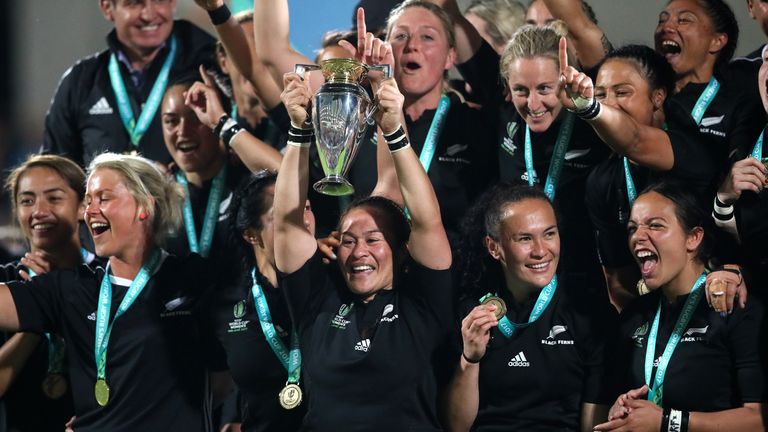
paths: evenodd
<path fill-rule="evenodd" d="M 646 187 L 638 198 L 651 192 L 656 192 L 672 201 L 675 206 L 675 216 L 686 233 L 690 233 L 696 227 L 704 230 L 704 237 L 696 251 L 696 258 L 707 263 L 714 249 L 712 220 L 691 188 L 674 180 L 661 180 Z"/>

